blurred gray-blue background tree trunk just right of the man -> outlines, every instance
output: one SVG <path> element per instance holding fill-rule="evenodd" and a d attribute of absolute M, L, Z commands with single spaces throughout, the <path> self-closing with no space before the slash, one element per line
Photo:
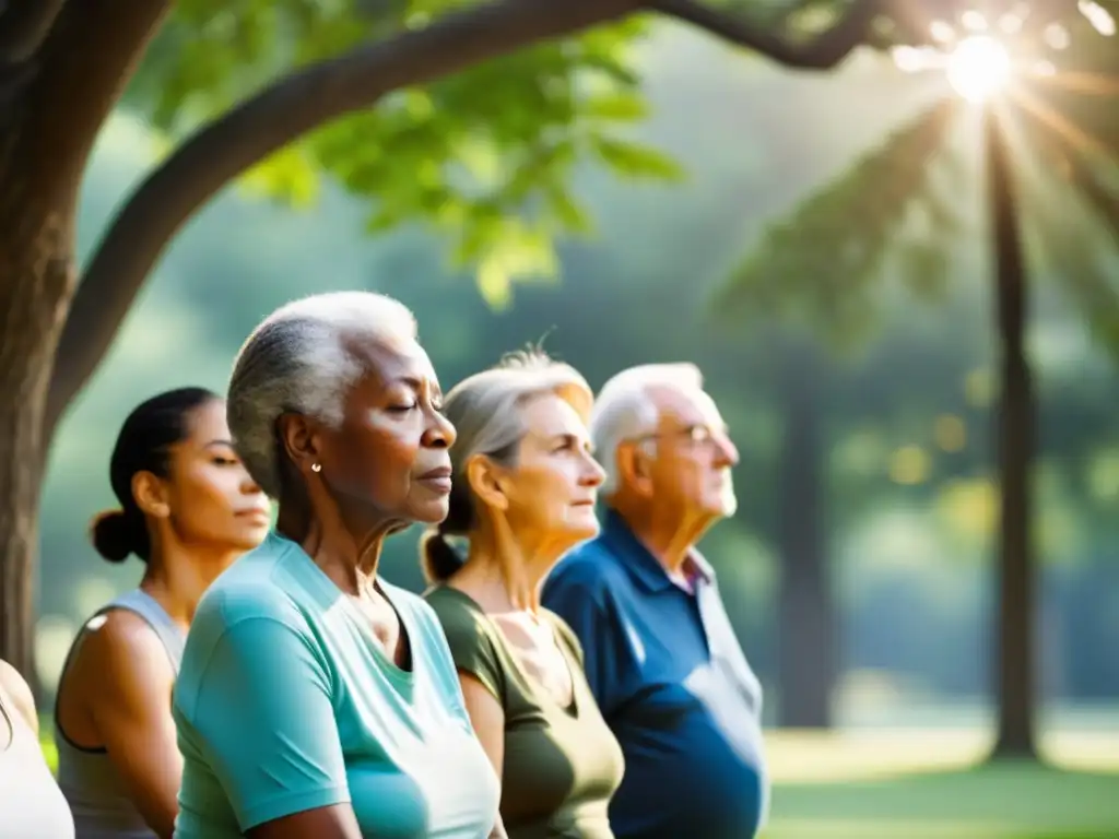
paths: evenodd
<path fill-rule="evenodd" d="M 792 338 L 782 343 L 778 723 L 791 728 L 828 728 L 837 621 L 826 545 L 827 488 L 819 398 L 822 361 L 810 339 Z"/>

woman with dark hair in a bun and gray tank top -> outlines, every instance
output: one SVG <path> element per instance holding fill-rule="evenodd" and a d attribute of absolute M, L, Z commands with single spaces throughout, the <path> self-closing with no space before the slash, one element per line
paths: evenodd
<path fill-rule="evenodd" d="M 182 758 L 171 689 L 209 584 L 267 534 L 267 499 L 233 450 L 225 402 L 160 394 L 124 421 L 109 466 L 121 507 L 93 522 L 105 559 L 144 564 L 91 618 L 58 686 L 58 783 L 77 839 L 170 839 Z"/>

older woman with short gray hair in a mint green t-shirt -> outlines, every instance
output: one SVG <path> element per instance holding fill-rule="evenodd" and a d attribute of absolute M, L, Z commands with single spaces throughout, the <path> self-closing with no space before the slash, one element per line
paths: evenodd
<path fill-rule="evenodd" d="M 227 409 L 279 513 L 191 625 L 176 837 L 490 835 L 498 782 L 446 641 L 377 575 L 385 537 L 441 521 L 451 491 L 454 428 L 412 313 L 356 292 L 281 308 L 242 347 Z"/>

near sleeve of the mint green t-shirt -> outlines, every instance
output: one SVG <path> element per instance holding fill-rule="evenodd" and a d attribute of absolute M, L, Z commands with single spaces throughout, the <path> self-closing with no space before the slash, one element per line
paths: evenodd
<path fill-rule="evenodd" d="M 330 678 L 305 633 L 243 618 L 215 640 L 184 735 L 204 754 L 242 831 L 350 800 Z"/>

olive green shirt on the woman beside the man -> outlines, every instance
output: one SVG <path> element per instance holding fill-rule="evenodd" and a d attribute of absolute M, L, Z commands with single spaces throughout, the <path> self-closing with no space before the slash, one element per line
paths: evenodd
<path fill-rule="evenodd" d="M 509 839 L 613 839 L 608 807 L 624 763 L 586 684 L 575 634 L 542 610 L 571 670 L 574 700 L 564 708 L 525 671 L 500 628 L 469 595 L 440 586 L 425 597 L 455 667 L 505 709 L 501 820 Z"/>

